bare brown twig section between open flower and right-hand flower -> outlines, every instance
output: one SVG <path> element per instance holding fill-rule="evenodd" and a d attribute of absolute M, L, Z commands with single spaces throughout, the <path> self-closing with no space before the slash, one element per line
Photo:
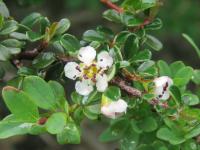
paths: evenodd
<path fill-rule="evenodd" d="M 112 79 L 111 83 L 119 86 L 122 90 L 124 90 L 131 96 L 136 96 L 136 97 L 142 96 L 142 92 L 140 90 L 127 85 L 127 83 L 120 77 L 116 77 L 116 78 Z"/>

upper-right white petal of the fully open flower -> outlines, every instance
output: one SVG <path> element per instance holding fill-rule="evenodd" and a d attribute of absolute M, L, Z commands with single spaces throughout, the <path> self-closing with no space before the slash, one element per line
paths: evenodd
<path fill-rule="evenodd" d="M 101 68 L 110 68 L 113 64 L 113 58 L 109 55 L 108 52 L 102 51 L 97 56 L 97 65 Z"/>

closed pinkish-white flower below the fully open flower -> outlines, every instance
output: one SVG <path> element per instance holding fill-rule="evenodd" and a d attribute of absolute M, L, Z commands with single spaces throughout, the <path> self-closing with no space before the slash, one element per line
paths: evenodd
<path fill-rule="evenodd" d="M 101 107 L 101 113 L 108 118 L 115 119 L 123 113 L 126 113 L 127 107 L 127 103 L 124 100 L 119 99 L 118 101 L 103 104 Z"/>

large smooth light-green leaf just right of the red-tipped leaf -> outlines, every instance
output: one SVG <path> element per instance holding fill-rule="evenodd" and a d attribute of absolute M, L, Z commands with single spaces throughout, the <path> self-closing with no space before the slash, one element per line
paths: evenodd
<path fill-rule="evenodd" d="M 40 77 L 26 77 L 23 82 L 23 90 L 31 96 L 37 106 L 43 109 L 55 109 L 57 101 L 53 90 Z"/>

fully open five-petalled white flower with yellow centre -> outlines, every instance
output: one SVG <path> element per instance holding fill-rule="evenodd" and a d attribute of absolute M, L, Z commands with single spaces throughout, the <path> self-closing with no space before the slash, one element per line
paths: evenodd
<path fill-rule="evenodd" d="M 80 95 L 89 95 L 93 86 L 99 92 L 104 92 L 108 87 L 108 78 L 105 71 L 113 65 L 113 58 L 107 51 L 102 51 L 96 58 L 96 51 L 93 47 L 82 47 L 78 52 L 80 64 L 69 62 L 64 67 L 65 76 L 76 82 L 75 89 Z"/>

